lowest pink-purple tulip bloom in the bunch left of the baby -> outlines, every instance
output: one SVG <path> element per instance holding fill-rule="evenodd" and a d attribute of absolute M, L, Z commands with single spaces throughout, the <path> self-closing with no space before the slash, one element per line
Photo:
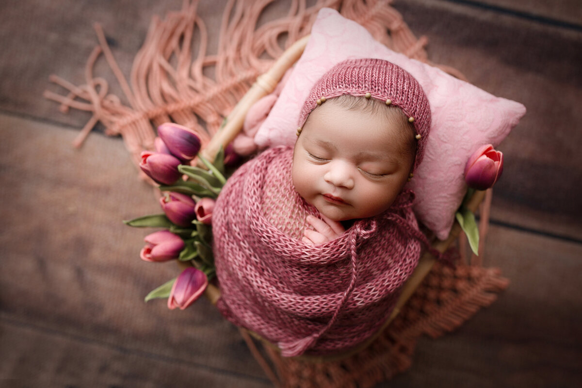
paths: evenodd
<path fill-rule="evenodd" d="M 183 310 L 200 298 L 207 286 L 208 277 L 200 269 L 194 267 L 184 269 L 172 286 L 168 308 L 173 310 L 179 307 Z"/>

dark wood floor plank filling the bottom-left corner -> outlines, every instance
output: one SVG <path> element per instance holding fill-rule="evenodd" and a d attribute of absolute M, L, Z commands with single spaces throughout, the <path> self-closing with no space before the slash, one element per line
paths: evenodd
<path fill-rule="evenodd" d="M 255 378 L 126 344 L 72 336 L 0 316 L 0 378 L 15 387 L 271 387 Z M 212 348 L 192 353 L 212 353 Z M 10 378 L 13 380 L 4 380 Z"/>

